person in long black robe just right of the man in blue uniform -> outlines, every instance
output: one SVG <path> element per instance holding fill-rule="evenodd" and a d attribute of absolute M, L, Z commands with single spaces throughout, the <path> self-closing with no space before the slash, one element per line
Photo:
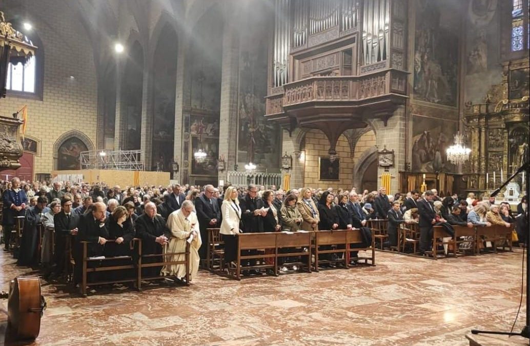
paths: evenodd
<path fill-rule="evenodd" d="M 37 199 L 37 205 L 28 209 L 26 220 L 24 221 L 24 230 L 20 239 L 20 253 L 18 265 L 34 265 L 39 263 L 40 253 L 38 247 L 40 242 L 40 232 L 44 215 L 50 211 L 47 207 L 48 199 L 41 196 Z"/>

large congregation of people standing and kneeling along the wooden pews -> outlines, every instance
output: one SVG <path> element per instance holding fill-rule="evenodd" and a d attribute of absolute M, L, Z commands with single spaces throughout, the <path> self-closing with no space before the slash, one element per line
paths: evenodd
<path fill-rule="evenodd" d="M 527 199 L 517 206 L 495 198 L 479 201 L 470 193 L 467 198 L 441 198 L 437 191 L 410 191 L 388 196 L 384 187 L 378 191 L 357 192 L 301 188 L 284 191 L 272 185 L 249 185 L 241 188 L 227 183 L 213 185 L 170 185 L 167 187 L 110 187 L 96 184 L 25 182 L 18 178 L 1 182 L 3 199 L 3 242 L 10 250 L 11 230 L 17 219 L 24 219 L 20 247 L 14 254 L 20 265 L 41 263 L 50 278 L 60 277 L 65 270 L 67 237 L 74 239 L 74 281 L 80 282 L 80 242 L 89 242 L 89 256 L 129 256 L 130 242 L 142 239 L 143 254 L 183 252 L 190 242 L 190 280 L 204 265 L 207 257 L 207 229 L 219 228 L 225 243 L 224 261 L 228 269 L 235 267 L 236 234 L 279 232 L 286 230 L 333 230 L 359 228 L 367 232 L 367 222 L 386 219 L 388 242 L 398 245 L 400 224 L 418 224 L 420 252 L 430 250 L 432 226 L 444 226 L 452 234 L 452 226 L 501 225 L 511 227 L 524 218 Z M 37 227 L 43 229 L 42 242 Z M 519 242 L 527 236 L 517 227 Z M 453 233 L 454 234 L 454 233 Z M 39 244 L 40 253 L 37 251 Z M 51 251 L 54 247 L 54 251 Z M 179 261 L 181 254 L 172 261 Z M 355 255 L 352 264 L 355 264 Z M 201 261 L 202 260 L 202 261 Z M 148 261 L 148 260 L 146 260 Z M 160 259 L 152 258 L 153 263 Z M 248 265 L 255 262 L 249 261 Z M 277 263 L 281 271 L 288 269 Z M 333 264 L 330 264 L 333 265 Z M 126 273 L 122 273 L 126 275 Z M 243 274 L 261 274 L 258 270 Z M 167 276 L 185 280 L 183 264 L 144 268 L 143 275 Z"/>

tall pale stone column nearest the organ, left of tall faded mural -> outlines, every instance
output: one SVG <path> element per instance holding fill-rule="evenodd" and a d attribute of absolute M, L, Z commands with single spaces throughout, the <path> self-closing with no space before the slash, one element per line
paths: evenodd
<path fill-rule="evenodd" d="M 225 21 L 223 30 L 223 61 L 221 67 L 221 104 L 219 121 L 219 157 L 225 158 L 225 170 L 219 172 L 219 180 L 227 179 L 229 170 L 237 162 L 237 96 L 239 87 L 239 12 L 233 3 L 226 6 L 233 20 Z"/>

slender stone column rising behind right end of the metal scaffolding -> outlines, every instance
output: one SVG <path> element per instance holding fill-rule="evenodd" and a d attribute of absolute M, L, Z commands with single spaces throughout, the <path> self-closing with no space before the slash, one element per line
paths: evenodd
<path fill-rule="evenodd" d="M 154 49 L 154 48 L 152 48 Z M 144 78 L 142 79 L 142 119 L 140 120 L 140 153 L 144 162 L 144 170 L 151 171 L 153 167 L 153 71 L 151 54 L 147 55 L 144 63 Z"/>

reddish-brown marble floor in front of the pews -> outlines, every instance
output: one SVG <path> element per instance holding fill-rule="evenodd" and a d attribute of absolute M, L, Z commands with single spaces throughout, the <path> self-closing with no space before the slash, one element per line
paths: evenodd
<path fill-rule="evenodd" d="M 0 253 L 1 289 L 31 273 L 13 262 Z M 454 346 L 471 329 L 508 331 L 516 316 L 520 249 L 438 261 L 377 252 L 376 264 L 242 281 L 202 271 L 190 287 L 87 298 L 42 281 L 48 309 L 33 344 Z M 0 301 L 0 335 L 6 309 Z"/>

